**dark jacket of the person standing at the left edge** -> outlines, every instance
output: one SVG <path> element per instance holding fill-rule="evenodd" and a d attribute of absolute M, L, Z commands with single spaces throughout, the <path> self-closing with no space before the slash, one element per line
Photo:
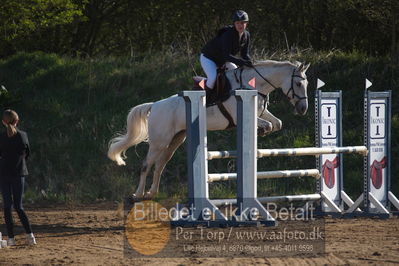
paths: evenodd
<path fill-rule="evenodd" d="M 9 138 L 7 132 L 0 134 L 0 178 L 27 176 L 26 159 L 30 153 L 28 135 L 17 129 Z"/>

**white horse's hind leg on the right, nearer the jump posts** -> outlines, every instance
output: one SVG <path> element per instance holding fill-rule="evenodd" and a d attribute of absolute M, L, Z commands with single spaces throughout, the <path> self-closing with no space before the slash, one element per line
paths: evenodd
<path fill-rule="evenodd" d="M 161 179 L 162 171 L 165 168 L 165 165 L 172 158 L 172 156 L 175 153 L 175 151 L 177 150 L 177 148 L 184 142 L 185 138 L 186 138 L 186 131 L 185 130 L 180 131 L 173 137 L 168 148 L 166 150 L 164 150 L 161 154 L 159 154 L 159 157 L 157 158 L 156 163 L 155 163 L 152 185 L 151 185 L 150 190 L 147 192 L 146 197 L 152 198 L 153 196 L 155 196 L 158 193 L 159 182 Z"/>

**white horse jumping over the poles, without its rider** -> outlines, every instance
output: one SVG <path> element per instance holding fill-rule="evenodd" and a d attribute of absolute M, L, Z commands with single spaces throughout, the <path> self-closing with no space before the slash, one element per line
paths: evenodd
<path fill-rule="evenodd" d="M 287 95 L 297 113 L 304 115 L 308 109 L 306 70 L 302 63 L 263 61 L 254 68 L 244 67 L 226 72 L 226 77 L 233 89 L 256 78 L 256 90 L 259 95 L 258 127 L 263 133 L 280 130 L 282 122 L 267 110 L 268 94 L 281 88 Z M 240 84 L 241 83 L 241 84 Z M 246 86 L 249 87 L 249 86 Z M 236 123 L 236 100 L 228 98 L 223 105 Z M 224 130 L 229 125 L 228 119 L 219 108 L 210 106 L 206 110 L 207 129 Z M 159 181 L 167 162 L 186 138 L 186 112 L 182 97 L 173 95 L 154 103 L 144 103 L 132 108 L 127 116 L 126 134 L 110 141 L 108 157 L 118 165 L 125 165 L 126 150 L 143 141 L 149 143 L 149 149 L 143 161 L 140 183 L 133 197 L 151 198 L 159 190 Z M 145 194 L 146 177 L 155 164 L 150 190 Z"/>

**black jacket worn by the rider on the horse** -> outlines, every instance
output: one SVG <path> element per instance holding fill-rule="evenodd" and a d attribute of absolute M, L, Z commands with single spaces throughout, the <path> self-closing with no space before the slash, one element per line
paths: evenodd
<path fill-rule="evenodd" d="M 225 62 L 242 66 L 245 60 L 251 59 L 249 44 L 249 32 L 244 31 L 240 39 L 238 31 L 230 25 L 221 29 L 219 34 L 202 48 L 201 52 L 219 67 Z M 240 52 L 241 58 L 235 56 L 238 52 Z"/>

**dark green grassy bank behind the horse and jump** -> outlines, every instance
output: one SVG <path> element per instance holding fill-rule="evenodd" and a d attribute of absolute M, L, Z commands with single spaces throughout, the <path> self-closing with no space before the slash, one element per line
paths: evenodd
<path fill-rule="evenodd" d="M 314 87 L 316 79 L 327 83 L 323 90 L 343 90 L 344 145 L 363 144 L 364 78 L 372 90 L 399 86 L 399 67 L 387 58 L 370 58 L 353 52 L 298 52 L 277 54 L 275 59 L 307 61 L 309 111 L 295 116 L 281 92 L 271 96 L 270 110 L 283 121 L 283 130 L 259 138 L 260 148 L 314 146 Z M 127 166 L 118 167 L 106 157 L 108 141 L 123 131 L 129 109 L 137 104 L 164 99 L 189 89 L 194 72 L 201 74 L 197 57 L 178 53 L 147 54 L 137 58 L 77 59 L 44 53 L 19 53 L 0 61 L 0 84 L 9 93 L 0 95 L 3 108 L 16 109 L 20 128 L 29 134 L 26 198 L 31 201 L 92 202 L 121 200 L 138 183 L 141 161 L 148 145 L 127 152 Z M 399 194 L 398 93 L 393 92 L 392 187 Z M 235 149 L 235 132 L 210 132 L 209 150 Z M 185 199 L 186 155 L 182 145 L 167 165 L 159 198 Z M 358 195 L 363 189 L 362 160 L 345 156 L 345 189 Z M 314 158 L 268 158 L 259 160 L 260 171 L 313 168 Z M 234 171 L 234 160 L 210 162 L 209 172 Z M 151 176 L 148 177 L 148 184 Z M 314 192 L 312 178 L 262 180 L 259 195 Z M 235 195 L 235 183 L 212 184 L 210 195 Z M 43 192 L 44 193 L 43 193 Z"/>

